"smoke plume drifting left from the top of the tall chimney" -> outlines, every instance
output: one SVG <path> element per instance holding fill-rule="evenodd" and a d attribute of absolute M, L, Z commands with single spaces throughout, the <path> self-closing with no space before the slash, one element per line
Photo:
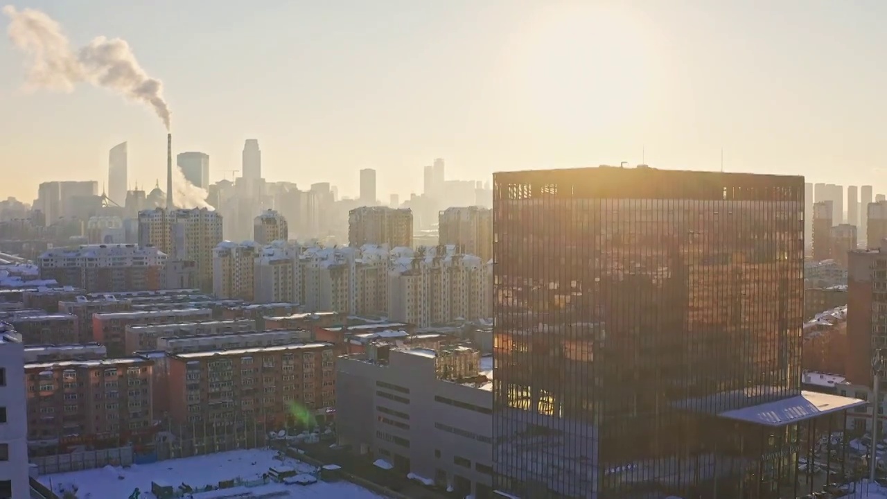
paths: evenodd
<path fill-rule="evenodd" d="M 76 83 L 87 82 L 122 94 L 151 107 L 169 130 L 169 105 L 163 99 L 163 83 L 145 73 L 119 38 L 98 36 L 74 51 L 51 17 L 34 9 L 3 8 L 11 22 L 12 44 L 27 54 L 27 83 L 31 88 L 73 91 Z"/>

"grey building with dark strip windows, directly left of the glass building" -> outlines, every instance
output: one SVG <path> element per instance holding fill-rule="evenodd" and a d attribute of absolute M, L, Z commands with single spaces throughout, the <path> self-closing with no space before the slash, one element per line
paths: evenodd
<path fill-rule="evenodd" d="M 492 384 L 480 368 L 479 353 L 463 346 L 341 357 L 339 444 L 398 475 L 491 499 Z"/>

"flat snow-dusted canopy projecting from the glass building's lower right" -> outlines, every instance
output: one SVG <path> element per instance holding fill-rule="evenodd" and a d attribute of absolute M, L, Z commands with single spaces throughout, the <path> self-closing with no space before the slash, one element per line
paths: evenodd
<path fill-rule="evenodd" d="M 840 395 L 802 391 L 800 395 L 794 397 L 765 402 L 747 408 L 728 410 L 719 413 L 718 416 L 745 423 L 784 426 L 797 423 L 798 421 L 806 421 L 814 417 L 825 416 L 840 410 L 864 406 L 867 403 L 866 400 L 852 399 Z"/>

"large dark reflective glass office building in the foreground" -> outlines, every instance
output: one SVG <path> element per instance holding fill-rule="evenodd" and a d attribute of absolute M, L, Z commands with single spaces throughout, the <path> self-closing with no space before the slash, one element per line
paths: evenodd
<path fill-rule="evenodd" d="M 715 415 L 800 392 L 804 192 L 734 173 L 495 174 L 496 488 L 766 497 L 743 484 L 793 480 L 797 426 Z"/>

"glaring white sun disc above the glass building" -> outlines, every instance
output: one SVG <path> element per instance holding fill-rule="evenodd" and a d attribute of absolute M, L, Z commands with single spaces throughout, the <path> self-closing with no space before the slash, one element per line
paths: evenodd
<path fill-rule="evenodd" d="M 561 4 L 529 25 L 512 48 L 514 85 L 538 124 L 586 134 L 636 119 L 651 85 L 642 20 L 621 9 Z"/>

